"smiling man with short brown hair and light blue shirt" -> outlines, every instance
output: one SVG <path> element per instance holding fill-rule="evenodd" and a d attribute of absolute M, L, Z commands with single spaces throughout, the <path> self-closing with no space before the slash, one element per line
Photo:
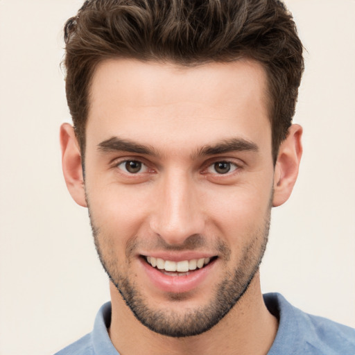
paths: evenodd
<path fill-rule="evenodd" d="M 355 354 L 354 329 L 261 294 L 302 155 L 283 4 L 86 1 L 65 39 L 64 178 L 111 302 L 58 354 Z"/>

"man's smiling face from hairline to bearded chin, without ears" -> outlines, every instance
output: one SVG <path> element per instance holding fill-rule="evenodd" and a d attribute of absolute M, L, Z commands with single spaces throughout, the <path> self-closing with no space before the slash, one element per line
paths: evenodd
<path fill-rule="evenodd" d="M 85 193 L 101 262 L 141 323 L 200 334 L 245 293 L 266 247 L 266 75 L 248 60 L 107 60 L 90 99 Z"/>

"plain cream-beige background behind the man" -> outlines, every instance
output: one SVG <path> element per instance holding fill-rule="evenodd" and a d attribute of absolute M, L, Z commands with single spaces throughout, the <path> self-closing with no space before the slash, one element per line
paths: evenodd
<path fill-rule="evenodd" d="M 53 354 L 92 329 L 108 282 L 60 166 L 59 62 L 80 0 L 0 0 L 0 354 Z M 263 291 L 355 327 L 355 1 L 288 0 L 306 53 L 304 157 L 275 209 Z"/>

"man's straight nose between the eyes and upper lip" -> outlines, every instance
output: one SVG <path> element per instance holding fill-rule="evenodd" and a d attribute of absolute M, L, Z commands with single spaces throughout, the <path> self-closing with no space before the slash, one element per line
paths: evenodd
<path fill-rule="evenodd" d="M 203 234 L 203 206 L 189 173 L 166 173 L 155 193 L 155 208 L 150 216 L 150 228 L 155 234 L 171 245 L 182 245 L 189 236 Z"/>

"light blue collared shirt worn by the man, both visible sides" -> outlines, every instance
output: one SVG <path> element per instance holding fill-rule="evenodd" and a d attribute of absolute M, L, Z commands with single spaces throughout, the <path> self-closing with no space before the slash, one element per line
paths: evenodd
<path fill-rule="evenodd" d="M 304 313 L 279 293 L 263 297 L 270 313 L 279 318 L 268 355 L 355 355 L 355 329 Z M 110 322 L 111 302 L 107 302 L 96 315 L 93 331 L 55 355 L 119 355 L 107 333 Z"/>

